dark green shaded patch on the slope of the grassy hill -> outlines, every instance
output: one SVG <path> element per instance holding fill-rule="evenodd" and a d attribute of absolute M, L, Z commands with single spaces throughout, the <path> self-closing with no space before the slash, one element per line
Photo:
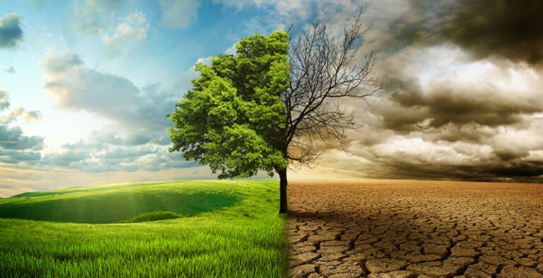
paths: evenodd
<path fill-rule="evenodd" d="M 226 193 L 109 192 L 69 198 L 29 198 L 0 203 L 0 218 L 52 222 L 118 223 L 153 211 L 194 216 L 234 205 L 239 198 Z"/>

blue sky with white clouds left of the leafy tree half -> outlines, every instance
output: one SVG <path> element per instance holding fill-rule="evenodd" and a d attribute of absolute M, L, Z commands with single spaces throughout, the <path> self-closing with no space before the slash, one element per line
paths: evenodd
<path fill-rule="evenodd" d="M 0 195 L 214 178 L 166 151 L 165 115 L 197 78 L 195 63 L 309 18 L 284 12 L 250 1 L 5 1 Z"/>

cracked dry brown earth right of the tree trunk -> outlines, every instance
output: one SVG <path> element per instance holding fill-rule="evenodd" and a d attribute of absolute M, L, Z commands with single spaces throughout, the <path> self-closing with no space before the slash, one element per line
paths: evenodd
<path fill-rule="evenodd" d="M 291 183 L 290 277 L 543 277 L 543 184 Z"/>

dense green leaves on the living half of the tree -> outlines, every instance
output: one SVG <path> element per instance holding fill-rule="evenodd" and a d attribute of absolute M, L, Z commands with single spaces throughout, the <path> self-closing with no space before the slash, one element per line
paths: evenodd
<path fill-rule="evenodd" d="M 197 64 L 200 78 L 168 119 L 173 147 L 187 160 L 221 171 L 219 179 L 273 176 L 286 168 L 286 112 L 281 92 L 290 72 L 288 34 L 256 34 L 237 45 L 237 56 Z"/>

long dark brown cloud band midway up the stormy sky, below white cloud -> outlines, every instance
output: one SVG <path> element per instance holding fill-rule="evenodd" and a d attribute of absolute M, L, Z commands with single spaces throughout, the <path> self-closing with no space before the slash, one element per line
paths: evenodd
<path fill-rule="evenodd" d="M 537 99 L 505 99 L 494 92 L 442 87 L 436 91 L 395 93 L 391 101 L 399 105 L 383 107 L 381 115 L 387 128 L 415 131 L 439 128 L 448 123 L 503 126 L 523 121 L 521 115 L 542 111 Z M 428 120 L 424 123 L 424 120 Z"/>

